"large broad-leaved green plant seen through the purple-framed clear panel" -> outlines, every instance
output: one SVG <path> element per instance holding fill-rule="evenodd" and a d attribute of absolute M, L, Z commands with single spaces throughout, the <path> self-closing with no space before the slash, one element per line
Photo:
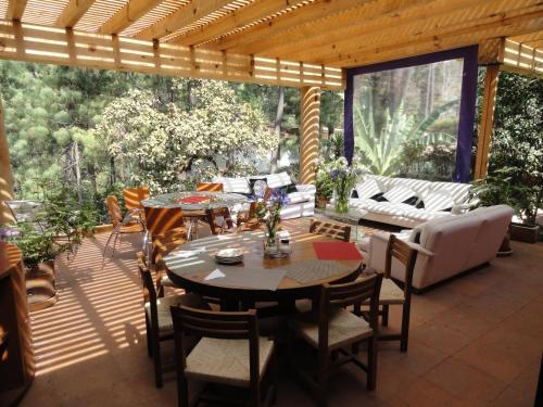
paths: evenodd
<path fill-rule="evenodd" d="M 414 115 L 405 112 L 403 101 L 392 114 L 390 107 L 386 106 L 382 113 L 382 126 L 378 128 L 369 88 L 365 89 L 361 97 L 362 103 L 353 105 L 355 144 L 361 149 L 374 174 L 391 175 L 395 171 L 406 142 L 416 140 L 422 145 L 430 145 L 455 141 L 451 135 L 444 132 L 427 133 L 427 130 L 435 124 L 442 113 L 458 104 L 458 100 L 442 104 L 419 123 L 415 120 Z"/>

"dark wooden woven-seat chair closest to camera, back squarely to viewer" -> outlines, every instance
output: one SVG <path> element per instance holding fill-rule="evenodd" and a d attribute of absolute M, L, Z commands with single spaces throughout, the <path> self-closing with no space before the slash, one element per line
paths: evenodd
<path fill-rule="evenodd" d="M 268 367 L 275 370 L 275 343 L 258 336 L 256 311 L 220 313 L 181 305 L 172 307 L 177 361 L 177 394 L 181 407 L 189 406 L 187 380 L 218 383 L 249 391 L 247 403 L 226 400 L 203 393 L 199 402 L 223 405 L 260 406 L 261 389 Z M 200 336 L 200 342 L 186 355 L 184 334 Z M 275 402 L 275 374 L 270 378 L 265 405 Z"/>

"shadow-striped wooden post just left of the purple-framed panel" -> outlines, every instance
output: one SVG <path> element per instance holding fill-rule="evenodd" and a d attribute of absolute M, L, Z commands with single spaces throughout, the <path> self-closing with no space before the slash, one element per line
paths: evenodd
<path fill-rule="evenodd" d="M 314 183 L 315 158 L 318 157 L 320 88 L 302 88 L 300 115 L 300 183 Z"/>

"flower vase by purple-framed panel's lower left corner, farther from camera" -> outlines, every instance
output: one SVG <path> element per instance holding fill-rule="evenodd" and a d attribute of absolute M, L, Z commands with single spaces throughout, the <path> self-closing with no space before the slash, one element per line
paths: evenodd
<path fill-rule="evenodd" d="M 333 181 L 336 212 L 345 214 L 349 211 L 349 194 L 362 176 L 362 168 L 349 165 L 345 157 L 339 157 L 329 164 L 329 175 Z"/>

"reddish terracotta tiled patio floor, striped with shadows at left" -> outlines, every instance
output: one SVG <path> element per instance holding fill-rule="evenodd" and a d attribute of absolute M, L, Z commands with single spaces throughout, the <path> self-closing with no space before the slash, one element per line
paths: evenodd
<path fill-rule="evenodd" d="M 177 403 L 173 373 L 154 387 L 137 244 L 123 243 L 102 267 L 106 237 L 88 239 L 72 262 L 58 260 L 60 301 L 31 315 L 37 373 L 24 407 Z M 365 390 L 362 371 L 342 368 L 331 379 L 329 405 L 533 406 L 543 348 L 543 243 L 513 247 L 512 257 L 416 295 L 408 353 L 381 344 L 376 392 Z M 392 308 L 394 328 L 400 314 Z M 313 404 L 282 372 L 277 405 Z"/>

